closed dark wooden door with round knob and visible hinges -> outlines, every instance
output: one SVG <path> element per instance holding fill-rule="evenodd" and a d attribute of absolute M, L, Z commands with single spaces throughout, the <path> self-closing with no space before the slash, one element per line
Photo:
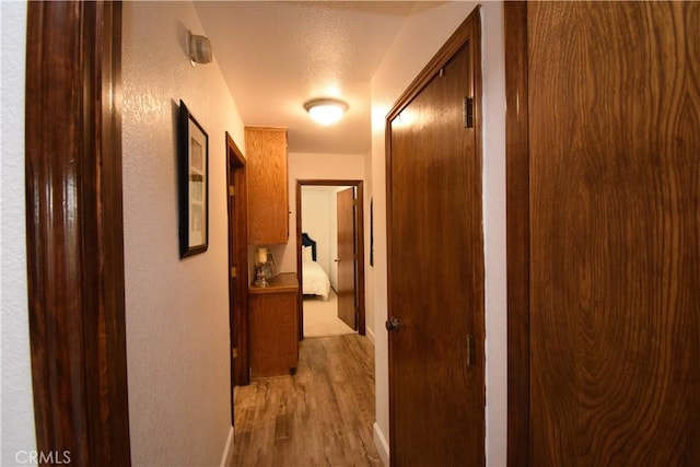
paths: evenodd
<path fill-rule="evenodd" d="M 387 117 L 394 466 L 485 464 L 478 37 L 477 11 Z"/>

